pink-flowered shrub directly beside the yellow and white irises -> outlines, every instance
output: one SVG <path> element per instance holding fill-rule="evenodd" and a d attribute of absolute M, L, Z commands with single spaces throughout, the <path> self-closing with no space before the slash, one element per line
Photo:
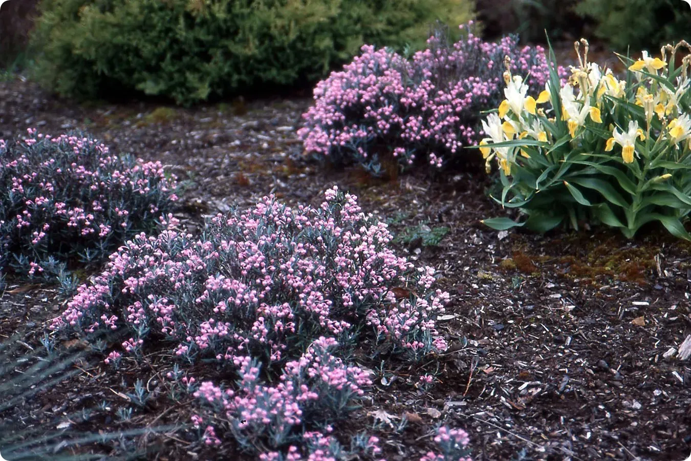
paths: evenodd
<path fill-rule="evenodd" d="M 412 59 L 363 46 L 314 88 L 315 104 L 298 131 L 305 151 L 361 164 L 373 176 L 381 175 L 384 158 L 395 158 L 401 170 L 416 160 L 436 169 L 464 160 L 460 149 L 482 134 L 480 111 L 504 99 L 504 57 L 514 72 L 530 74 L 531 91 L 545 89 L 549 65 L 540 46 L 519 48 L 515 35 L 495 44 L 473 35 L 472 21 L 460 28 L 465 38 L 450 45 L 437 30 Z"/>

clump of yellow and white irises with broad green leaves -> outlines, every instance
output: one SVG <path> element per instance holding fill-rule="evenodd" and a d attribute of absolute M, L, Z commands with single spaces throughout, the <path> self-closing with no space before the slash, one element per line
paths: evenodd
<path fill-rule="evenodd" d="M 479 147 L 488 164 L 496 159 L 500 166 L 503 189 L 495 200 L 525 219 L 484 223 L 545 232 L 585 221 L 632 238 L 658 221 L 691 239 L 683 226 L 691 211 L 691 56 L 674 64 L 677 50 L 691 46 L 667 45 L 656 58 L 644 51 L 635 62 L 620 56 L 632 62 L 625 80 L 587 62 L 585 39 L 575 46 L 580 66 L 571 67 L 569 82 L 560 84 L 552 70 L 536 97 L 520 75 L 504 73 L 506 100 L 483 121 L 487 137 Z"/>

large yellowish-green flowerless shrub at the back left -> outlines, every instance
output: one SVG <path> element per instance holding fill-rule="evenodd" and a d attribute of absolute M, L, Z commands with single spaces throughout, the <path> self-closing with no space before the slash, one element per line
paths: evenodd
<path fill-rule="evenodd" d="M 37 77 L 61 95 L 139 91 L 191 104 L 316 82 L 363 43 L 415 49 L 470 0 L 44 0 Z"/>

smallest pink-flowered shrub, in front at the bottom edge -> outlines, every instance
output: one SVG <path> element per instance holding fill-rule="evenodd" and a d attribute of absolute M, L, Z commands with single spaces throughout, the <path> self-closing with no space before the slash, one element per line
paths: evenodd
<path fill-rule="evenodd" d="M 268 448 L 301 459 L 299 446 L 314 436 L 326 440 L 320 431 L 328 431 L 331 424 L 348 418 L 356 408 L 353 401 L 372 384 L 368 373 L 345 366 L 330 353 L 337 347 L 338 341 L 333 338 L 316 339 L 299 359 L 285 364 L 275 386 L 261 384 L 261 365 L 256 359 L 236 357 L 236 391 L 223 391 L 211 382 L 202 382 L 194 396 L 210 406 L 214 414 L 225 416 L 229 421 L 225 426 L 241 449 L 258 452 Z M 316 430 L 305 433 L 305 426 Z M 377 449 L 375 444 L 370 448 Z M 280 459 L 275 458 L 278 451 L 270 451 L 262 459 Z"/>

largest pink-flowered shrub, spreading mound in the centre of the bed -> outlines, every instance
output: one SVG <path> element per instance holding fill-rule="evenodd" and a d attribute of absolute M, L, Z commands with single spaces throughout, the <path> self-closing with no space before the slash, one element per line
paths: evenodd
<path fill-rule="evenodd" d="M 356 197 L 337 187 L 325 196 L 321 208 L 297 211 L 265 197 L 216 216 L 200 240 L 172 230 L 135 236 L 53 328 L 124 327 L 133 337 L 123 348 L 135 354 L 153 332 L 189 361 L 251 356 L 265 366 L 322 335 L 349 342 L 364 327 L 392 353 L 445 350 L 435 318 L 449 295 L 430 290 L 434 269 L 395 256 L 386 224 L 365 216 Z M 424 294 L 396 299 L 391 289 L 405 284 Z"/>

